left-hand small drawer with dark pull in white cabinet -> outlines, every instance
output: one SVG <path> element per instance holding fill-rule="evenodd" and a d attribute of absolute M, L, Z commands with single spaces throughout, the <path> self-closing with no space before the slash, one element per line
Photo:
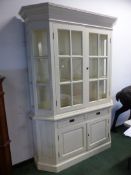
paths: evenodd
<path fill-rule="evenodd" d="M 74 125 L 74 124 L 83 122 L 84 119 L 85 119 L 84 115 L 78 115 L 78 116 L 62 119 L 62 120 L 57 121 L 57 127 L 58 128 L 63 128 L 63 127 L 66 127 L 66 126 Z"/>

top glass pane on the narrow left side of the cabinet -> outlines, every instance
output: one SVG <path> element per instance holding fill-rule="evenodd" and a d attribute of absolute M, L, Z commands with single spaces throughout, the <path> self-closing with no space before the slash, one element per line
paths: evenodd
<path fill-rule="evenodd" d="M 47 32 L 42 30 L 34 31 L 34 55 L 47 56 L 48 55 Z"/>

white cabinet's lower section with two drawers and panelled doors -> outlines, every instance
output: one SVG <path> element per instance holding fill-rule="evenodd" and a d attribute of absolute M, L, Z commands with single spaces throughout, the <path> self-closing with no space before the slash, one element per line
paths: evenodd
<path fill-rule="evenodd" d="M 34 120 L 34 135 L 37 168 L 59 172 L 111 146 L 110 109 L 56 121 Z"/>

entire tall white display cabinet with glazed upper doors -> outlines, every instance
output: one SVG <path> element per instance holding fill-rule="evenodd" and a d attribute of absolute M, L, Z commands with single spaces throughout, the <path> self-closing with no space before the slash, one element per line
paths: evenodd
<path fill-rule="evenodd" d="M 43 3 L 22 7 L 34 158 L 59 172 L 110 147 L 115 18 Z"/>

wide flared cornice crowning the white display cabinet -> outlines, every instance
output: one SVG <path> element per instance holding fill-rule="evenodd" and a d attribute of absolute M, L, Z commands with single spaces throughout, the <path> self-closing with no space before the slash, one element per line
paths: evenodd
<path fill-rule="evenodd" d="M 25 22 L 36 20 L 56 21 L 107 29 L 112 29 L 113 24 L 116 21 L 116 18 L 112 16 L 56 5 L 53 3 L 23 6 L 19 14 Z"/>

